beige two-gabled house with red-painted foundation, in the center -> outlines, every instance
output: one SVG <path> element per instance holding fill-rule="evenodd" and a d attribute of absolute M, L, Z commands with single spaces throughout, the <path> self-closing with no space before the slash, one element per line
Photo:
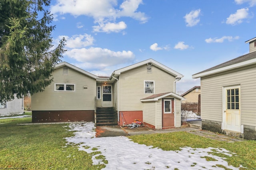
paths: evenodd
<path fill-rule="evenodd" d="M 175 86 L 183 75 L 153 59 L 115 70 L 110 77 L 62 62 L 52 76 L 44 92 L 32 95 L 33 122 L 96 120 L 97 125 L 100 108 L 112 107 L 116 125 L 135 119 L 155 129 L 181 125 L 184 98 L 175 94 Z"/>

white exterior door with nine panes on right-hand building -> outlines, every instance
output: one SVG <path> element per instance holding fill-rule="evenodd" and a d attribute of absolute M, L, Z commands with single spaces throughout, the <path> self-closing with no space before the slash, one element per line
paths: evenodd
<path fill-rule="evenodd" d="M 240 86 L 224 88 L 224 129 L 241 133 Z"/>

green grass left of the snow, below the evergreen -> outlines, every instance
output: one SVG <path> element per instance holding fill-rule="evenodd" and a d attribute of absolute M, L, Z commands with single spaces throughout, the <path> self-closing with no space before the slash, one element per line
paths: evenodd
<path fill-rule="evenodd" d="M 31 114 L 31 113 L 26 113 Z M 92 165 L 92 154 L 79 151 L 75 145 L 66 145 L 64 124 L 26 125 L 32 118 L 0 119 L 0 167 L 26 169 L 102 169 Z M 95 152 L 93 152 L 95 154 Z"/>

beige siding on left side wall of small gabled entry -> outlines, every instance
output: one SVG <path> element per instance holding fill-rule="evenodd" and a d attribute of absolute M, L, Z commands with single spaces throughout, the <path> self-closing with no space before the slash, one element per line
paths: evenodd
<path fill-rule="evenodd" d="M 156 102 L 143 102 L 143 121 L 156 126 Z"/>

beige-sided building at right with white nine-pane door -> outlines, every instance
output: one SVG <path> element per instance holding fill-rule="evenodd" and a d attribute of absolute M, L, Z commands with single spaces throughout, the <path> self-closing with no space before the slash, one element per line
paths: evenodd
<path fill-rule="evenodd" d="M 256 37 L 250 53 L 192 75 L 201 78 L 202 129 L 256 140 Z"/>

